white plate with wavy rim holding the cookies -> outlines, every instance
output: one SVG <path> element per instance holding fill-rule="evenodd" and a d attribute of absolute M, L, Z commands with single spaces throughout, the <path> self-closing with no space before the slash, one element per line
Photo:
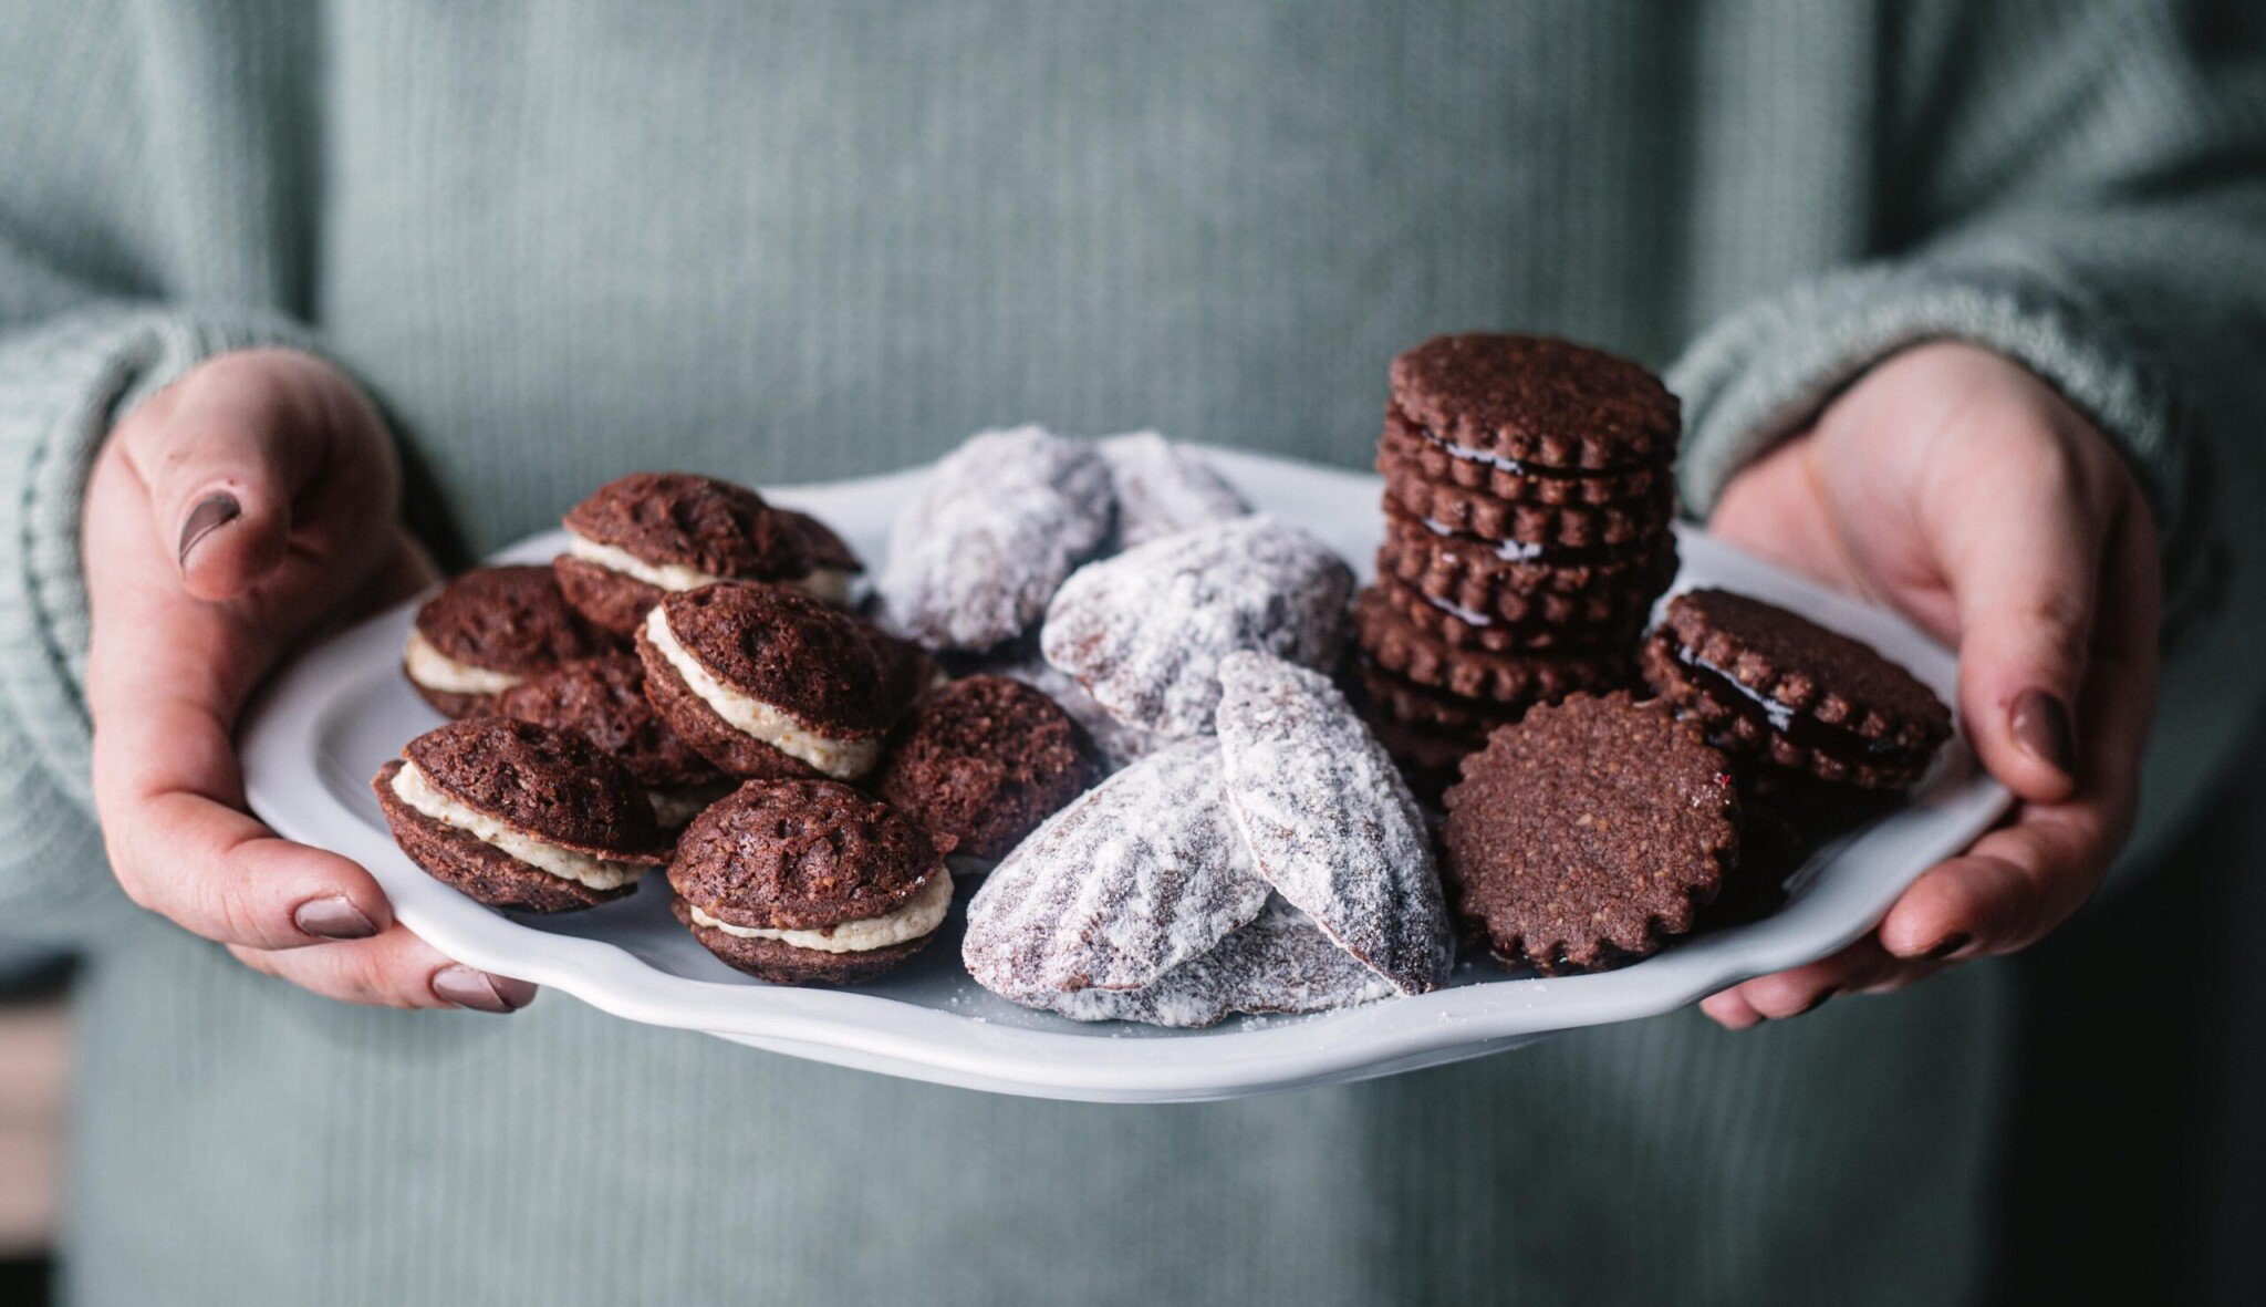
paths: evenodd
<path fill-rule="evenodd" d="M 1382 530 L 1378 478 L 1230 451 L 1212 458 L 1260 507 L 1319 532 L 1366 571 Z M 818 512 L 863 557 L 879 559 L 891 514 L 915 478 L 780 489 L 775 498 Z M 546 559 L 557 548 L 560 537 L 544 535 L 501 559 Z M 1700 532 L 1684 535 L 1677 584 L 1722 584 L 1801 609 L 1872 641 L 1946 702 L 1953 698 L 1953 657 L 1901 618 Z M 1965 745 L 1953 745 L 1910 806 L 1820 852 L 1774 915 L 1598 976 L 1511 979 L 1473 960 L 1448 990 L 1346 1013 L 1230 1019 L 1210 1031 L 1079 1024 L 1017 1008 L 970 981 L 954 911 L 945 938 L 879 983 L 791 990 L 741 976 L 700 949 L 668 917 L 659 879 L 596 911 L 535 917 L 485 908 L 394 849 L 369 777 L 403 741 L 442 720 L 401 680 L 412 609 L 403 605 L 342 630 L 267 686 L 242 736 L 252 809 L 267 825 L 360 861 L 412 931 L 474 967 L 548 985 L 630 1022 L 1006 1094 L 1233 1099 L 1387 1076 L 1477 1058 L 1550 1031 L 1668 1013 L 1856 940 L 1913 877 L 1965 847 L 2008 804 Z M 961 886 L 961 904 L 968 888 Z"/>

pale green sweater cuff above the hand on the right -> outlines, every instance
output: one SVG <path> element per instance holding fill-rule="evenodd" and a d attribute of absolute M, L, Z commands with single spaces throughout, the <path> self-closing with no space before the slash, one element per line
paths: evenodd
<path fill-rule="evenodd" d="M 1709 328 L 1668 376 L 1686 410 L 1686 507 L 1704 516 L 1743 467 L 1926 340 L 1978 344 L 2053 385 L 2139 476 L 2166 541 L 2166 609 L 2196 589 L 2196 442 L 2166 374 L 2105 304 L 2012 249 L 1826 274 Z"/>

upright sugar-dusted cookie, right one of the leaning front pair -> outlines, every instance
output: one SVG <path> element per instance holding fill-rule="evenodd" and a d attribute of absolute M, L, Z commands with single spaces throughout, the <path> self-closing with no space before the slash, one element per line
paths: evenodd
<path fill-rule="evenodd" d="M 1330 677 L 1278 657 L 1219 661 L 1228 806 L 1260 874 L 1409 994 L 1448 979 L 1448 906 L 1423 813 Z"/>

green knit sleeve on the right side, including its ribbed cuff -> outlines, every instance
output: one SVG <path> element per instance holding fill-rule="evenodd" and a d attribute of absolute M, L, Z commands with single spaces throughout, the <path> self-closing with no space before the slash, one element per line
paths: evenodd
<path fill-rule="evenodd" d="M 1924 340 L 2005 353 L 2132 460 L 2169 609 L 2214 580 L 2207 467 L 2257 442 L 2266 68 L 2205 11 L 1899 7 L 1883 79 L 1885 256 L 1783 288 L 1672 369 L 1704 512 L 1835 392 Z M 2257 451 L 2246 451 L 2255 455 Z"/>

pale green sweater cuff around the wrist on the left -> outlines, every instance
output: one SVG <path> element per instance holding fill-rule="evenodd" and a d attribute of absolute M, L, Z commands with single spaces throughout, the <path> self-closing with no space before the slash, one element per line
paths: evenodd
<path fill-rule="evenodd" d="M 265 313 L 93 304 L 0 333 L 0 924 L 104 892 L 91 815 L 79 503 L 113 421 L 197 360 L 304 344 Z"/>

